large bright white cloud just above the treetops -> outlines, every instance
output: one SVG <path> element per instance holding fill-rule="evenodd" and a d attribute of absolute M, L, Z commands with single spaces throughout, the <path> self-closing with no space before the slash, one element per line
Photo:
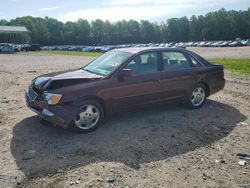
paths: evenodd
<path fill-rule="evenodd" d="M 242 0 L 247 2 L 249 0 Z M 191 16 L 197 12 L 208 12 L 237 5 L 238 0 L 109 0 L 98 8 L 87 8 L 61 14 L 60 21 L 87 20 L 157 20 L 157 18 Z M 155 19 L 156 18 L 156 19 Z"/>

